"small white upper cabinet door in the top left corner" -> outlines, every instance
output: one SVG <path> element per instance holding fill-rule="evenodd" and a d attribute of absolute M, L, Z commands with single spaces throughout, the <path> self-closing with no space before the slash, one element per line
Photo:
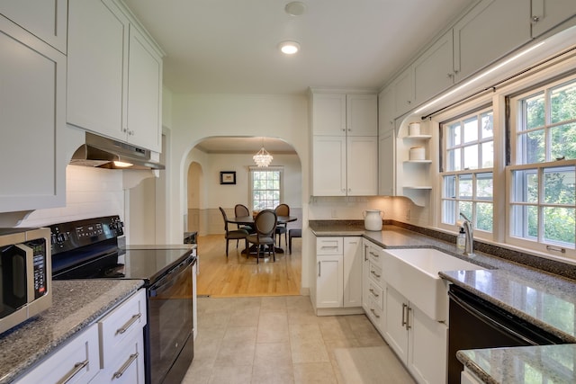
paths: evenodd
<path fill-rule="evenodd" d="M 66 54 L 67 0 L 2 0 L 0 13 Z"/>

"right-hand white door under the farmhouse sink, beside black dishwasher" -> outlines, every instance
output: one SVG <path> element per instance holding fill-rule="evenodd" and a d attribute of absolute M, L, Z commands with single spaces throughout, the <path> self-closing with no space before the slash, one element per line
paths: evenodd
<path fill-rule="evenodd" d="M 408 369 L 421 383 L 446 382 L 448 327 L 410 304 Z"/>

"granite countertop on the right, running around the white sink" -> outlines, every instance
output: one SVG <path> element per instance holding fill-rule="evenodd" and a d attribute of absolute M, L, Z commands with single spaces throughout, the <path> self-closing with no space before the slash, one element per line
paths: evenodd
<path fill-rule="evenodd" d="M 531 267 L 482 252 L 460 255 L 455 244 L 393 225 L 384 225 L 382 231 L 376 232 L 364 230 L 362 222 L 313 222 L 310 227 L 319 237 L 362 236 L 384 248 L 433 247 L 485 267 L 439 275 L 570 344 L 460 351 L 458 359 L 491 384 L 524 383 L 527 370 L 556 379 L 554 382 L 576 382 L 576 281 L 541 271 L 537 265 Z"/>

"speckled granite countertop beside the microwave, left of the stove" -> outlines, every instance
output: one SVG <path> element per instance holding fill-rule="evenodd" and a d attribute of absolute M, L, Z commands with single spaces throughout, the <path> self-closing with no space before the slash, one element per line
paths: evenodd
<path fill-rule="evenodd" d="M 142 284 L 140 280 L 52 281 L 52 306 L 0 335 L 0 384 L 12 382 Z"/>

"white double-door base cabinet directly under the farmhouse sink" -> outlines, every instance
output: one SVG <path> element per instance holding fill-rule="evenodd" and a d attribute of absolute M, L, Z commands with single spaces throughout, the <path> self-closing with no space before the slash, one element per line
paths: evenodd
<path fill-rule="evenodd" d="M 448 327 L 386 286 L 384 337 L 419 383 L 446 382 Z"/>

